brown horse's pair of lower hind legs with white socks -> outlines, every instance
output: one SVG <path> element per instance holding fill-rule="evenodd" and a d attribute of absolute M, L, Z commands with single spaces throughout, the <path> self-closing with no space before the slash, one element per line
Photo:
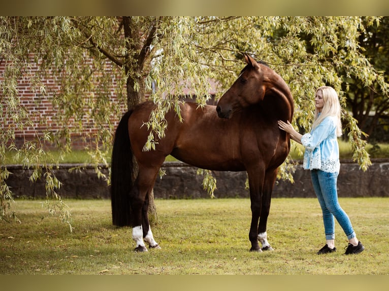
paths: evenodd
<path fill-rule="evenodd" d="M 131 191 L 130 199 L 133 216 L 133 239 L 137 247 L 135 251 L 147 251 L 143 238 L 151 247 L 157 247 L 150 230 L 150 223 L 147 215 L 149 206 L 148 195 L 151 192 L 159 167 L 144 168 L 139 167 L 139 174 L 135 181 L 135 187 Z"/>

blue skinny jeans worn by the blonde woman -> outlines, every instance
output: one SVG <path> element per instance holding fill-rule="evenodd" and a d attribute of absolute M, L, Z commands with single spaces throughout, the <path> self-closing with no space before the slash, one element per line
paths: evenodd
<path fill-rule="evenodd" d="M 338 202 L 336 182 L 338 173 L 327 173 L 321 170 L 311 170 L 313 189 L 323 212 L 324 231 L 326 239 L 335 239 L 335 220 L 343 229 L 348 239 L 355 237 L 350 219 Z"/>

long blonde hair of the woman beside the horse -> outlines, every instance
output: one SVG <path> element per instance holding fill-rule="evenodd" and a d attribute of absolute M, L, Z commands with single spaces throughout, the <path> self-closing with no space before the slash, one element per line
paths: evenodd
<path fill-rule="evenodd" d="M 339 102 L 338 94 L 335 89 L 329 86 L 321 86 L 316 89 L 315 96 L 317 91 L 321 91 L 323 95 L 323 108 L 321 110 L 321 114 L 315 108 L 315 116 L 313 119 L 312 129 L 320 124 L 328 116 L 336 116 L 337 117 L 337 125 L 336 125 L 336 135 L 342 135 L 342 123 L 340 121 L 341 115 L 341 107 Z"/>

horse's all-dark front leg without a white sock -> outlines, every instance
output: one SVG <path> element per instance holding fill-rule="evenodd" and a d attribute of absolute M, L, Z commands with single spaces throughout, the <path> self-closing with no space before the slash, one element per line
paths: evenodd
<path fill-rule="evenodd" d="M 248 183 L 250 188 L 250 202 L 251 202 L 251 225 L 249 232 L 249 239 L 251 242 L 250 251 L 261 252 L 262 248 L 258 243 L 258 222 L 260 220 L 260 215 L 262 211 L 262 186 L 264 171 L 254 170 L 247 171 L 248 173 Z"/>

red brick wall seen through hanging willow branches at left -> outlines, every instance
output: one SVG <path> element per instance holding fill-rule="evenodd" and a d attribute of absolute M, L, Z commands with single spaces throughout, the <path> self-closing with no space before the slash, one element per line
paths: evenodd
<path fill-rule="evenodd" d="M 32 57 L 31 57 L 32 59 Z M 5 60 L 0 61 L 0 82 L 4 82 L 4 72 L 6 66 L 9 65 Z M 92 65 L 90 60 L 86 60 L 84 64 L 80 65 Z M 58 76 L 53 74 L 49 69 L 46 71 L 46 78 L 41 79 L 44 88 L 45 94 L 43 95 L 40 91 L 40 88 L 34 88 L 31 85 L 30 77 L 34 77 L 39 67 L 33 61 L 30 62 L 29 67 L 25 68 L 23 71 L 22 77 L 18 80 L 17 89 L 20 97 L 20 106 L 28 113 L 33 124 L 26 124 L 23 128 L 16 127 L 13 122 L 12 116 L 6 114 L 7 111 L 7 99 L 8 97 L 2 96 L 1 102 L 3 107 L 3 114 L 1 117 L 1 122 L 4 125 L 4 129 L 8 127 L 14 127 L 15 129 L 15 141 L 17 145 L 21 145 L 24 140 L 34 140 L 37 136 L 43 136 L 45 132 L 49 129 L 52 132 L 58 132 L 62 130 L 62 125 L 58 123 L 57 117 L 63 114 L 58 106 L 53 103 L 53 96 L 58 94 L 62 88 Z M 103 74 L 111 74 L 112 67 L 110 63 L 106 63 Z M 99 73 L 101 74 L 101 73 Z M 99 87 L 99 84 L 96 84 L 96 88 Z M 116 80 L 113 78 L 110 84 L 110 98 L 112 102 L 118 102 L 117 95 L 115 93 L 115 86 L 117 86 Z M 125 89 L 125 88 L 124 88 Z M 82 98 L 89 98 L 94 92 L 84 92 Z M 1 93 L 3 94 L 3 92 Z M 112 116 L 111 122 L 116 128 L 116 125 L 121 117 L 121 113 L 126 111 L 126 104 L 119 104 L 120 113 L 119 116 Z M 1 110 L 1 108 L 0 108 Z M 98 128 L 94 125 L 93 117 L 90 117 L 90 108 L 84 108 L 84 113 L 82 120 L 82 132 L 76 132 L 76 127 L 78 127 L 78 122 L 74 118 L 69 119 L 66 127 L 73 132 L 71 134 L 73 147 L 74 148 L 83 148 L 85 145 L 90 143 L 90 140 L 93 139 L 94 135 L 98 132 Z M 108 127 L 107 125 L 103 125 Z M 46 144 L 48 147 L 51 147 L 51 144 Z"/>

